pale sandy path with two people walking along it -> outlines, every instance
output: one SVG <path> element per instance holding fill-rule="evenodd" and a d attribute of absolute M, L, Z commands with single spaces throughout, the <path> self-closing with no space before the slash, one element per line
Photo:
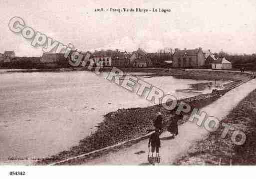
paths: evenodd
<path fill-rule="evenodd" d="M 212 104 L 202 108 L 208 116 L 215 116 L 222 120 L 231 110 L 250 92 L 256 89 L 256 79 L 253 79 L 237 88 L 232 89 Z M 161 162 L 159 165 L 172 164 L 175 159 L 184 153 L 197 140 L 207 137 L 208 132 L 196 124 L 186 122 L 179 126 L 179 135 L 174 139 L 169 132 L 160 136 Z M 140 154 L 135 154 L 140 152 Z M 109 153 L 99 158 L 88 161 L 82 165 L 147 165 L 148 140 L 141 141 L 130 148 Z"/>

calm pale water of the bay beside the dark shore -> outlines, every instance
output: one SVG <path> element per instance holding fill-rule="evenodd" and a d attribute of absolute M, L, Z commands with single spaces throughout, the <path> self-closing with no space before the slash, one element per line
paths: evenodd
<path fill-rule="evenodd" d="M 13 164 L 11 156 L 43 158 L 67 150 L 90 135 L 106 113 L 153 105 L 106 76 L 84 71 L 0 73 L 0 164 Z M 172 76 L 143 80 L 178 98 L 227 83 Z"/>

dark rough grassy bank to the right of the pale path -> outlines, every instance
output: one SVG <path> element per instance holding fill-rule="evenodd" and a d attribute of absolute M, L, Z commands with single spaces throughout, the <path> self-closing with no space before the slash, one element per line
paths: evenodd
<path fill-rule="evenodd" d="M 256 90 L 243 99 L 222 121 L 242 130 L 247 136 L 241 145 L 232 143 L 229 131 L 221 138 L 224 127 L 209 134 L 208 138 L 196 142 L 185 156 L 177 159 L 175 165 L 256 165 Z M 221 122 L 221 123 L 222 123 Z"/>

